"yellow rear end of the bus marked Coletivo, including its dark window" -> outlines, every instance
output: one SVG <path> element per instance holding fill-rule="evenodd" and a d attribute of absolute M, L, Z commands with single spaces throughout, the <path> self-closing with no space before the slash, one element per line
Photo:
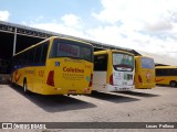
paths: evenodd
<path fill-rule="evenodd" d="M 46 92 L 91 94 L 92 45 L 80 41 L 55 38 L 51 45 L 46 67 Z"/>

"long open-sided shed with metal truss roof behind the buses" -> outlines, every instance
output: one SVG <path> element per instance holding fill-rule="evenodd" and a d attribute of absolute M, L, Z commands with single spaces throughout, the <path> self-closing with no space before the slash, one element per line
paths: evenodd
<path fill-rule="evenodd" d="M 94 46 L 94 51 L 111 48 L 111 50 L 122 50 L 131 52 L 135 55 L 147 55 L 155 59 L 156 65 L 174 65 L 177 63 L 173 58 L 166 56 L 159 56 L 156 54 L 144 53 L 140 51 L 134 51 L 131 48 L 123 48 L 119 46 L 113 46 L 110 44 L 103 44 L 100 42 L 94 42 L 91 40 L 80 38 L 75 36 L 64 35 L 60 33 L 49 32 L 44 30 L 39 30 L 30 26 L 24 26 L 14 23 L 8 23 L 0 21 L 0 74 L 9 74 L 8 63 L 10 58 L 18 52 L 50 36 L 62 36 L 62 37 L 73 37 L 82 41 L 90 42 Z"/>

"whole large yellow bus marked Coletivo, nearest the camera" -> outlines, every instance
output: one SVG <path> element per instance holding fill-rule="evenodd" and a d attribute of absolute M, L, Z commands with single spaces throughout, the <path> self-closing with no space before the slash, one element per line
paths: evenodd
<path fill-rule="evenodd" d="M 52 36 L 12 57 L 12 82 L 24 92 L 91 94 L 93 58 L 90 43 Z"/>

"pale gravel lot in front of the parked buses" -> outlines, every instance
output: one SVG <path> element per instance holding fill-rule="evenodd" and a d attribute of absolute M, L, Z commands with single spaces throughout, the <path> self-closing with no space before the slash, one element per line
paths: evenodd
<path fill-rule="evenodd" d="M 128 92 L 94 92 L 91 96 L 67 97 L 35 94 L 28 96 L 23 95 L 20 87 L 0 85 L 0 122 L 177 122 L 177 88 L 156 87 Z M 43 132 L 51 131 L 69 130 Z"/>

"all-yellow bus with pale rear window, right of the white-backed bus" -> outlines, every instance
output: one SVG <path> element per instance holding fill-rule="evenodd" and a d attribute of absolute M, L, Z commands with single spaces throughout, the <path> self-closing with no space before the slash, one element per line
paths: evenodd
<path fill-rule="evenodd" d="M 135 88 L 155 88 L 155 63 L 147 56 L 135 56 Z"/>

